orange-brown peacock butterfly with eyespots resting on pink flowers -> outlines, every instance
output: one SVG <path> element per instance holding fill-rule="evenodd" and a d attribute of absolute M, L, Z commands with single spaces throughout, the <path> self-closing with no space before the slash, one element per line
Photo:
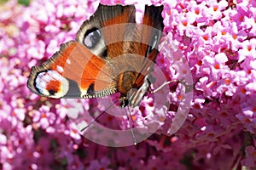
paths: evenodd
<path fill-rule="evenodd" d="M 33 66 L 27 87 L 49 98 L 100 98 L 120 93 L 120 107 L 139 105 L 153 81 L 162 37 L 163 6 L 145 6 L 142 24 L 134 5 L 100 4 L 75 41 Z"/>

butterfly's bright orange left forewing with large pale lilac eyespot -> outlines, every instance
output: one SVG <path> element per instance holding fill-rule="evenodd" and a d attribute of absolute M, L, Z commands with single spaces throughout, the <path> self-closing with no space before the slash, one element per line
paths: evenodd
<path fill-rule="evenodd" d="M 33 93 L 51 98 L 104 96 L 115 93 L 109 71 L 106 61 L 84 45 L 67 42 L 43 65 L 32 67 L 27 86 Z M 101 77 L 97 77 L 98 74 Z"/>

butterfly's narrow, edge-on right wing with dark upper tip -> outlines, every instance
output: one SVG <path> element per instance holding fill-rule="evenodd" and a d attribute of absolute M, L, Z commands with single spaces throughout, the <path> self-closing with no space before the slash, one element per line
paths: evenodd
<path fill-rule="evenodd" d="M 139 105 L 140 101 L 143 99 L 144 94 L 148 91 L 150 82 L 153 82 L 153 77 L 150 73 L 154 68 L 154 61 L 157 57 L 158 44 L 162 36 L 162 31 L 164 28 L 163 18 L 161 12 L 163 6 L 154 7 L 146 6 L 145 13 L 143 17 L 143 25 L 139 26 L 138 30 L 141 32 L 140 42 L 137 43 L 137 54 L 144 57 L 141 70 L 136 74 L 136 81 L 133 84 L 133 88 L 137 90 L 131 90 L 129 94 L 126 95 L 125 103 L 129 103 L 131 106 Z"/>

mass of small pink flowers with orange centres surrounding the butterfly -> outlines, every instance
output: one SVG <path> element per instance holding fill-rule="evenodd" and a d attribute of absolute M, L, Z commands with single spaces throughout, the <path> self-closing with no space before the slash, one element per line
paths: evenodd
<path fill-rule="evenodd" d="M 46 99 L 26 88 L 31 67 L 73 40 L 99 3 L 136 4 L 143 10 L 138 0 L 0 5 L 0 169 L 256 167 L 256 2 L 143 1 L 164 5 L 166 41 L 156 64 L 166 80 L 178 81 L 166 85 L 168 102 L 160 93 L 148 93 L 130 119 L 123 110 L 118 119 L 105 114 L 96 121 L 118 130 L 133 123 L 140 133 L 154 133 L 123 148 L 90 142 L 75 126 L 81 116 L 88 123 L 90 116 L 107 111 L 109 99 Z M 91 133 L 94 141 L 110 135 L 99 129 Z"/>

